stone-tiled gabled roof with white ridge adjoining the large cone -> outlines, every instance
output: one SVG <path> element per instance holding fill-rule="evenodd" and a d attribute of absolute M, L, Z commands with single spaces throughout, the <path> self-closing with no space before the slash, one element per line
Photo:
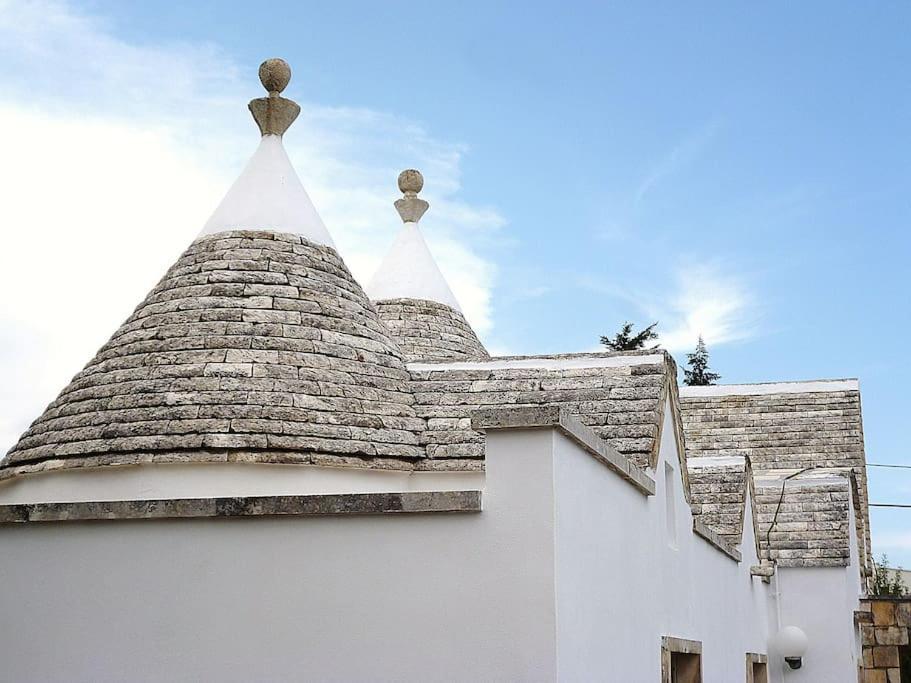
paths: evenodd
<path fill-rule="evenodd" d="M 665 398 L 676 390 L 676 365 L 663 351 L 512 356 L 489 361 L 412 363 L 415 410 L 429 463 L 479 460 L 484 437 L 473 411 L 558 406 L 575 415 L 637 467 L 653 466 Z"/>

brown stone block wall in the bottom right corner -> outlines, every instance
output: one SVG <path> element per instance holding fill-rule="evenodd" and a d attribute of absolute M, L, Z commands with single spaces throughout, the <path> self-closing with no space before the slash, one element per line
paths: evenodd
<path fill-rule="evenodd" d="M 900 648 L 909 644 L 911 636 L 911 597 L 862 600 L 857 619 L 863 683 L 902 683 Z"/>

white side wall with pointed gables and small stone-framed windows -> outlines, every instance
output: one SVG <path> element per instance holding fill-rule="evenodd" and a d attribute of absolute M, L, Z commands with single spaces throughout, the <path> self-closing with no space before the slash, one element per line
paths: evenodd
<path fill-rule="evenodd" d="M 650 497 L 556 437 L 561 680 L 658 681 L 663 635 L 702 642 L 704 681 L 743 681 L 746 653 L 766 652 L 768 586 L 749 572 L 749 508 L 740 563 L 692 532 L 669 406 L 665 415 Z"/>

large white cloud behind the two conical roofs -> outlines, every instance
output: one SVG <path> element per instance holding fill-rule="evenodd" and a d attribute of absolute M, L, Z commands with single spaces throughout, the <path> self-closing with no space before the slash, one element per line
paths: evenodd
<path fill-rule="evenodd" d="M 240 77 L 212 46 L 132 45 L 64 3 L 0 0 L 0 451 L 186 248 L 254 150 L 255 66 Z M 428 242 L 488 331 L 496 273 L 466 235 L 480 244 L 503 220 L 458 199 L 464 149 L 387 114 L 301 105 L 288 151 L 354 275 L 368 279 L 400 225 L 398 171 L 421 168 Z"/>

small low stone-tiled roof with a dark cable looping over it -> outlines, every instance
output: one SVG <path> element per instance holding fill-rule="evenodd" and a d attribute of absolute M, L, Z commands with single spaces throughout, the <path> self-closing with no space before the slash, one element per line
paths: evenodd
<path fill-rule="evenodd" d="M 799 470 L 757 475 L 758 536 L 763 553 L 782 567 L 844 567 L 849 564 L 851 473 L 844 469 Z M 782 485 L 784 495 L 782 496 Z M 781 507 L 774 528 L 778 501 Z"/>

